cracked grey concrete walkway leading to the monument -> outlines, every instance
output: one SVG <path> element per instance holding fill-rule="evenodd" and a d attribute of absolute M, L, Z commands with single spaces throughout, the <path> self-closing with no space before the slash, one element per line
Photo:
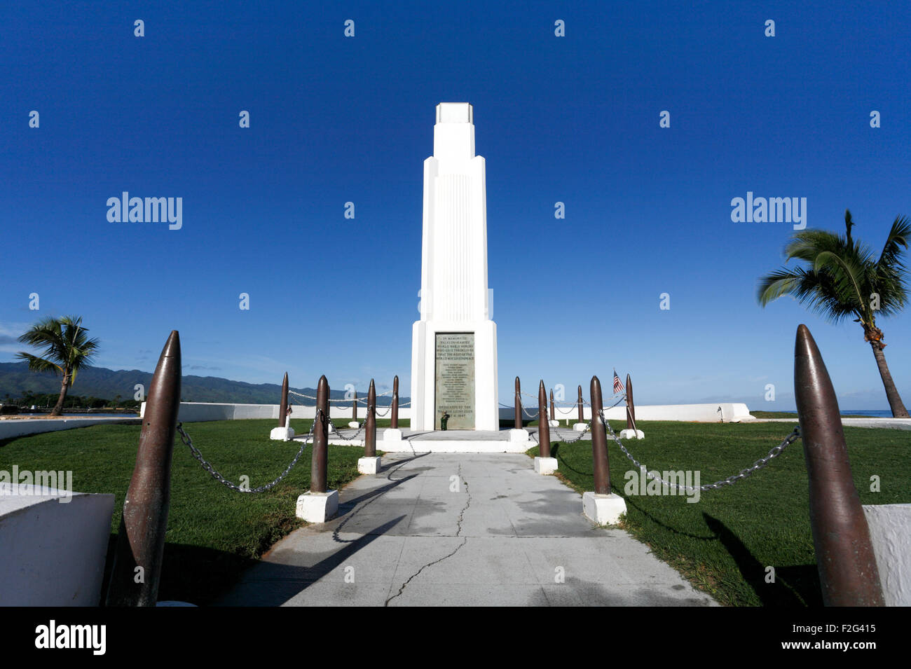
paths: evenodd
<path fill-rule="evenodd" d="M 341 492 L 339 517 L 277 543 L 221 605 L 715 602 L 524 454 L 405 453 Z"/>

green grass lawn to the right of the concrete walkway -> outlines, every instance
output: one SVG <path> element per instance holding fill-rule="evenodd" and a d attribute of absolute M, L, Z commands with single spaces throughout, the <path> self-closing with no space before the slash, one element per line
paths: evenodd
<path fill-rule="evenodd" d="M 618 432 L 625 421 L 610 421 Z M 795 421 L 796 424 L 796 421 Z M 624 441 L 649 470 L 701 471 L 701 485 L 752 465 L 780 443 L 786 423 L 640 421 L 642 441 Z M 844 428 L 855 486 L 864 504 L 911 502 L 911 432 Z M 554 442 L 558 477 L 578 492 L 594 489 L 591 441 Z M 732 486 L 685 496 L 624 492 L 633 464 L 608 436 L 611 492 L 625 498 L 620 523 L 691 583 L 728 605 L 819 606 L 822 598 L 810 530 L 804 451 L 794 441 L 763 470 Z M 528 451 L 537 455 L 537 448 Z M 870 477 L 881 492 L 870 492 Z M 766 583 L 766 567 L 775 582 Z"/>

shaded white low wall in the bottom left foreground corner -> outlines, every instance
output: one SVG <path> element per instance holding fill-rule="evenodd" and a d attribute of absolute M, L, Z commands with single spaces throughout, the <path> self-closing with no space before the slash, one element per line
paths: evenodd
<path fill-rule="evenodd" d="M 19 488 L 0 494 L 0 605 L 97 606 L 114 495 Z"/>

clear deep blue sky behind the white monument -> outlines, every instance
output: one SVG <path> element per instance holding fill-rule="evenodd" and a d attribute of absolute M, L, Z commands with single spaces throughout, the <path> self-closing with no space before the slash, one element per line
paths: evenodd
<path fill-rule="evenodd" d="M 572 396 L 616 367 L 639 403 L 793 408 L 804 322 L 842 408 L 887 407 L 854 323 L 757 306 L 793 229 L 731 200 L 807 198 L 839 232 L 851 208 L 878 253 L 911 215 L 911 5 L 383 5 L 4 4 L 0 361 L 72 313 L 113 369 L 152 370 L 179 329 L 188 374 L 407 394 L 422 163 L 435 105 L 467 101 L 501 401 L 516 375 Z M 182 228 L 108 222 L 124 190 L 183 198 Z M 907 404 L 911 313 L 879 325 Z"/>

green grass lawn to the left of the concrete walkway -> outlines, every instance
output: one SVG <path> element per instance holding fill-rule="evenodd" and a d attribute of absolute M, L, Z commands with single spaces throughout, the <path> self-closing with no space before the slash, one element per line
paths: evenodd
<path fill-rule="evenodd" d="M 292 461 L 299 442 L 270 441 L 272 420 L 187 423 L 202 456 L 229 481 L 250 487 L 272 481 Z M 311 421 L 292 420 L 306 432 Z M 72 470 L 78 492 L 113 492 L 111 548 L 136 463 L 138 425 L 97 425 L 0 441 L 0 470 Z M 171 499 L 159 600 L 209 603 L 272 543 L 304 524 L 294 515 L 297 496 L 310 487 L 308 446 L 288 477 L 268 492 L 233 492 L 211 478 L 179 439 L 171 464 Z M 328 479 L 339 488 L 359 475 L 363 448 L 330 446 Z M 108 556 L 110 556 L 110 551 Z M 110 560 L 108 559 L 108 566 Z"/>

